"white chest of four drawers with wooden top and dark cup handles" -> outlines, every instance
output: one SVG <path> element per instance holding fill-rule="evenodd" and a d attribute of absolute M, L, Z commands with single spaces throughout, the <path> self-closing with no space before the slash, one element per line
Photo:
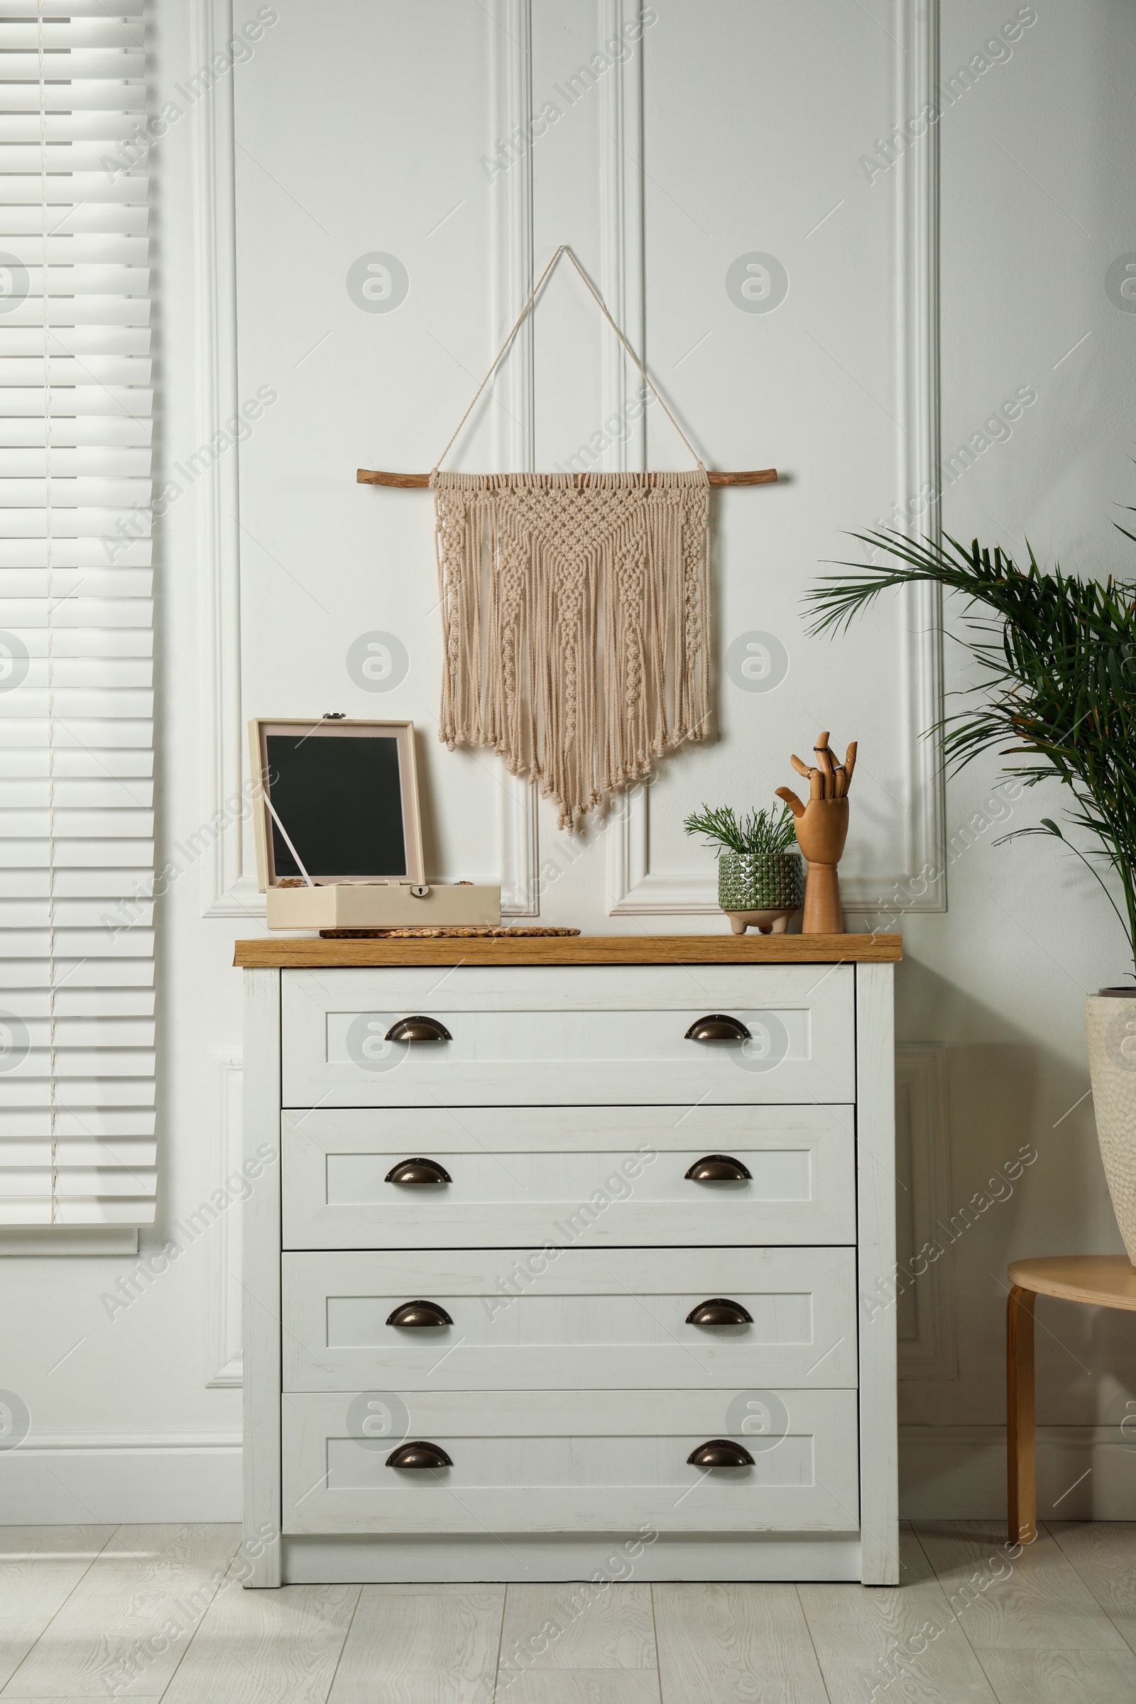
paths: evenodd
<path fill-rule="evenodd" d="M 247 1583 L 894 1583 L 898 958 L 240 942 Z"/>

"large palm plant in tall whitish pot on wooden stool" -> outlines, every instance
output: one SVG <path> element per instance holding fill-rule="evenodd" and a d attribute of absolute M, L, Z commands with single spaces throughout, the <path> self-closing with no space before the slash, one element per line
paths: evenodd
<path fill-rule="evenodd" d="M 1121 527 L 1129 538 L 1129 533 Z M 1018 567 L 1003 550 L 954 538 L 855 533 L 882 564 L 838 564 L 806 596 L 814 632 L 838 630 L 891 586 L 927 581 L 967 600 L 966 644 L 981 668 L 971 704 L 945 717 L 944 760 L 959 770 L 996 750 L 1027 787 L 1059 780 L 1064 828 L 1046 816 L 1015 833 L 1047 835 L 1100 883 L 1136 968 L 1136 581 L 1078 579 Z M 1066 828 L 1087 837 L 1081 849 Z M 1003 838 L 1012 838 L 1007 835 Z M 1112 876 L 1112 883 L 1105 876 Z M 1119 903 L 1116 888 L 1119 888 Z M 1088 1067 L 1105 1177 L 1127 1258 L 1136 1266 L 1136 983 L 1085 1002 Z"/>

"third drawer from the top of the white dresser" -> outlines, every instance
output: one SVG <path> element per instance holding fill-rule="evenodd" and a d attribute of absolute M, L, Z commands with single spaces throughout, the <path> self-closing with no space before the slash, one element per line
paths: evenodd
<path fill-rule="evenodd" d="M 855 1251 L 286 1254 L 283 1324 L 286 1390 L 852 1387 Z"/>

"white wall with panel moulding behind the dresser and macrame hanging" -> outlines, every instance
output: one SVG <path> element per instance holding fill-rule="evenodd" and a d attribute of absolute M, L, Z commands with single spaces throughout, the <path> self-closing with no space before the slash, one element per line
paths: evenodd
<path fill-rule="evenodd" d="M 238 0 L 238 22 L 255 10 Z M 955 835 L 996 777 L 990 762 L 954 780 L 940 818 L 927 748 L 913 738 L 937 666 L 918 608 L 881 608 L 828 641 L 807 637 L 799 602 L 818 564 L 852 554 L 841 533 L 918 492 L 933 441 L 933 349 L 920 317 L 933 285 L 920 266 L 935 252 L 928 148 L 874 181 L 860 162 L 896 111 L 920 109 L 911 102 L 930 61 L 916 9 L 659 0 L 642 48 L 571 107 L 554 85 L 635 15 L 630 0 L 533 0 L 531 15 L 523 0 L 491 12 L 456 0 L 278 0 L 276 10 L 252 58 L 153 155 L 160 460 L 186 486 L 155 528 L 158 862 L 175 855 L 187 867 L 158 918 L 162 1191 L 143 1249 L 184 1223 L 225 1171 L 240 1048 L 232 941 L 264 925 L 235 830 L 196 862 L 172 849 L 240 784 L 244 716 L 412 716 L 433 872 L 502 876 L 514 893 L 540 893 L 542 920 L 589 932 L 720 930 L 712 862 L 681 818 L 702 799 L 766 803 L 790 779 L 789 751 L 823 726 L 860 741 L 845 869 L 862 907 L 894 903 L 896 891 L 909 900 L 940 823 Z M 1015 14 L 955 0 L 942 70 L 967 63 Z M 157 0 L 158 104 L 186 87 L 223 15 L 221 0 Z M 1131 561 L 1110 521 L 1133 489 L 1136 319 L 1109 300 L 1104 274 L 1136 247 L 1124 227 L 1134 58 L 1121 0 L 1039 5 L 1010 56 L 979 72 L 937 126 L 944 448 L 1015 390 L 1036 392 L 1012 436 L 947 491 L 947 528 L 1010 547 L 1027 532 L 1039 554 L 1087 571 Z M 569 109 L 526 162 L 491 181 L 480 157 L 519 116 L 526 85 L 535 111 L 547 99 Z M 438 745 L 429 498 L 354 486 L 356 465 L 433 463 L 525 296 L 530 233 L 538 266 L 557 242 L 574 245 L 642 337 L 709 465 L 787 475 L 715 499 L 715 741 L 663 765 L 649 816 L 637 804 L 591 830 L 582 850 L 547 806 L 531 811 L 494 758 Z M 789 274 L 770 314 L 743 312 L 726 290 L 731 262 L 754 250 Z M 373 252 L 407 269 L 393 312 L 364 312 L 347 291 L 349 268 Z M 448 465 L 560 462 L 611 416 L 622 385 L 596 310 L 562 268 L 531 341 L 519 339 Z M 261 387 L 276 400 L 240 452 L 237 527 L 233 453 L 192 481 L 187 457 L 215 412 L 223 419 Z M 627 465 L 640 453 L 632 431 Z M 647 453 L 651 465 L 686 465 L 657 409 Z M 618 448 L 606 453 L 606 465 L 618 460 Z M 376 630 L 395 634 L 409 659 L 385 694 L 363 690 L 347 668 L 353 641 Z M 743 690 L 724 666 L 731 642 L 751 632 L 785 648 L 789 670 L 772 692 Z M 961 682 L 959 656 L 949 637 L 949 685 Z M 1008 826 L 1054 804 L 1015 799 Z M 949 1220 L 1022 1143 L 1037 1150 L 1012 1198 L 983 1212 L 903 1302 L 906 1496 L 923 1513 L 1000 1508 L 1007 1259 L 1121 1247 L 1090 1102 L 1076 1102 L 1088 1087 L 1083 993 L 1124 970 L 1122 942 L 1080 866 L 1039 842 L 993 847 L 998 832 L 978 832 L 950 862 L 947 912 L 935 910 L 942 884 L 932 883 L 903 924 L 899 1034 L 940 1048 L 904 1055 L 920 1111 L 901 1217 L 925 1227 L 933 1206 Z M 233 1230 L 235 1213 L 221 1215 L 114 1319 L 100 1295 L 128 1259 L 10 1261 L 0 1382 L 27 1402 L 34 1447 L 0 1462 L 7 1518 L 233 1515 L 240 1392 L 206 1382 L 233 1377 Z M 1059 1496 L 1092 1465 L 1059 1513 L 1133 1515 L 1117 1426 L 1136 1399 L 1126 1377 L 1134 1327 L 1058 1304 L 1039 1314 L 1053 1333 L 1039 1331 L 1039 1418 L 1054 1428 L 1042 1435 L 1042 1494 Z"/>

